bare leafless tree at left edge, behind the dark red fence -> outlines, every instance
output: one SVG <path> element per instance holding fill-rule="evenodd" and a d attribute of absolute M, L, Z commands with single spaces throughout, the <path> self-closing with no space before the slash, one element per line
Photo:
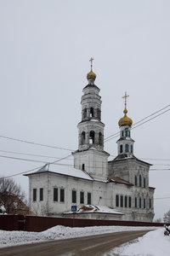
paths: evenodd
<path fill-rule="evenodd" d="M 0 177 L 0 206 L 4 206 L 7 213 L 11 214 L 23 214 L 29 210 L 25 193 L 12 178 Z"/>

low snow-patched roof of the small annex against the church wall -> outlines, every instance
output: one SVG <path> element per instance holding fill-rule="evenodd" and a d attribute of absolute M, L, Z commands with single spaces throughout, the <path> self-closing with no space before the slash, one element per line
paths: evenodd
<path fill-rule="evenodd" d="M 64 214 L 71 214 L 72 212 L 64 212 Z M 108 214 L 119 214 L 124 215 L 122 212 L 118 212 L 115 209 L 106 206 L 93 206 L 93 205 L 84 205 L 77 209 L 77 214 L 80 213 L 108 213 Z"/>

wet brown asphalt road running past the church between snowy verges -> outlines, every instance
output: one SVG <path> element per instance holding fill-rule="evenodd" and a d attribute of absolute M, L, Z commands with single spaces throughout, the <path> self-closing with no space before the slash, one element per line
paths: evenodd
<path fill-rule="evenodd" d="M 83 236 L 58 241 L 44 241 L 0 249 L 2 256 L 101 256 L 124 242 L 144 236 L 149 230 L 124 231 L 97 236 Z"/>

